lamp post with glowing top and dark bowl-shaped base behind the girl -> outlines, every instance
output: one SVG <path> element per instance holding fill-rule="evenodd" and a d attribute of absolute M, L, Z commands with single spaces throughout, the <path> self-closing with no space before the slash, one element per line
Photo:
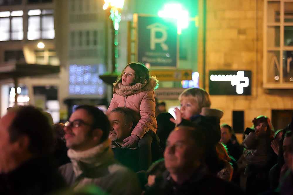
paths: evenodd
<path fill-rule="evenodd" d="M 100 78 L 107 84 L 113 84 L 117 77 L 119 76 L 117 72 L 118 63 L 118 30 L 119 23 L 121 21 L 120 10 L 124 6 L 124 0 L 104 0 L 105 4 L 103 5 L 103 10 L 107 10 L 109 14 L 110 21 L 112 23 L 112 73 L 100 75 Z M 106 17 L 106 24 L 108 23 L 108 17 Z M 106 25 L 108 29 L 108 25 Z M 107 32 L 107 31 L 106 31 Z M 108 37 L 106 35 L 106 37 Z M 108 46 L 108 38 L 106 39 L 106 44 Z M 107 52 L 107 51 L 106 51 Z M 107 55 L 106 55 L 107 56 Z M 108 59 L 105 59 L 108 60 Z"/>

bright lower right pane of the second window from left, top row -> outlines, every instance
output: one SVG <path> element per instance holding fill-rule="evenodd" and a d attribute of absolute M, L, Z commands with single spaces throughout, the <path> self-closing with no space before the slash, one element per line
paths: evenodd
<path fill-rule="evenodd" d="M 44 15 L 42 17 L 42 39 L 54 39 L 54 17 L 52 15 Z"/>

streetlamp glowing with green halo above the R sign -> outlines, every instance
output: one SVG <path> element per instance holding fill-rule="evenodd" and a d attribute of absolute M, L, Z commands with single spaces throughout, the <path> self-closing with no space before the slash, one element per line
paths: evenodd
<path fill-rule="evenodd" d="M 182 29 L 188 27 L 189 21 L 194 20 L 195 26 L 198 26 L 198 17 L 189 18 L 189 13 L 184 10 L 181 4 L 166 4 L 164 9 L 158 12 L 161 18 L 173 18 L 177 20 L 177 33 L 181 34 Z"/>

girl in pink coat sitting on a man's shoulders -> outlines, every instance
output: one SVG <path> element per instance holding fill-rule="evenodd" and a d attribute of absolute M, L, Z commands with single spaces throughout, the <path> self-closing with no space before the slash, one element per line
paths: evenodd
<path fill-rule="evenodd" d="M 156 77 L 149 76 L 149 70 L 142 64 L 130 63 L 114 83 L 113 98 L 107 114 L 114 108 L 127 107 L 140 113 L 140 120 L 132 130 L 131 136 L 123 140 L 122 148 L 139 146 L 139 157 L 142 169 L 151 163 L 151 142 L 153 137 L 149 130 L 156 133 L 154 90 L 158 87 Z M 143 158 L 143 159 L 142 159 Z"/>

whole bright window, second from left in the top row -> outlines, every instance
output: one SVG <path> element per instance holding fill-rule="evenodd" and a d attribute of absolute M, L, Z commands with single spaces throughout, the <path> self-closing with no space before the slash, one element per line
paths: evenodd
<path fill-rule="evenodd" d="M 28 40 L 54 39 L 54 11 L 29 10 L 28 11 Z"/>

